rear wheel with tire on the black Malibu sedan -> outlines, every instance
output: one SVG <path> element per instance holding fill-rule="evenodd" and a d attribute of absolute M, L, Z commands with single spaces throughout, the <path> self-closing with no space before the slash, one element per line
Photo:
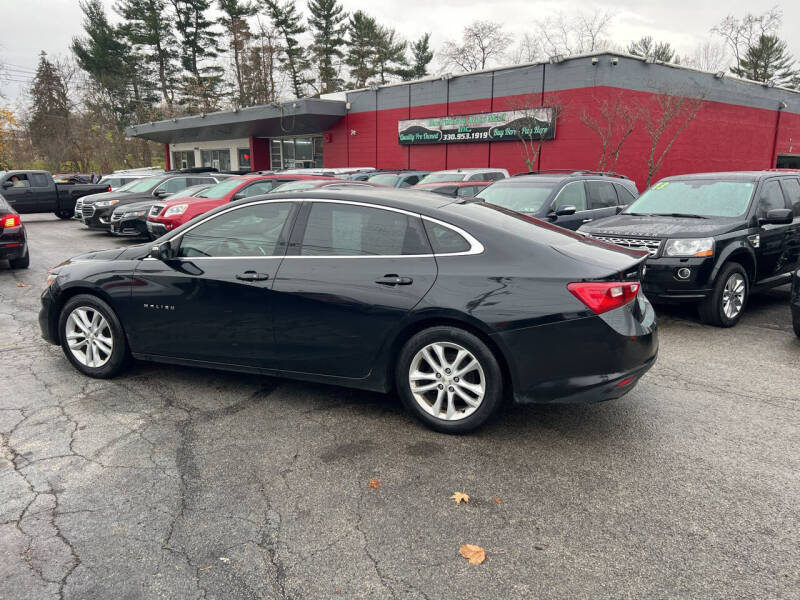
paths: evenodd
<path fill-rule="evenodd" d="M 483 425 L 500 406 L 503 390 L 492 351 L 456 327 L 432 327 L 408 340 L 395 380 L 406 408 L 444 433 L 466 433 Z"/>

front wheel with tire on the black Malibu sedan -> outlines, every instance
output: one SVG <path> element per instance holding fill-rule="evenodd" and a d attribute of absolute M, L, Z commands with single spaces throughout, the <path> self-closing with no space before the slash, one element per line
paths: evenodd
<path fill-rule="evenodd" d="M 100 298 L 70 298 L 61 309 L 58 332 L 67 360 L 84 375 L 110 379 L 125 366 L 125 332 L 114 309 Z"/>

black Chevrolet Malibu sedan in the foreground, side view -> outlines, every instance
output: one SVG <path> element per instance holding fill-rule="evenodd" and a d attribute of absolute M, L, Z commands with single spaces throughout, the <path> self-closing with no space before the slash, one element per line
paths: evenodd
<path fill-rule="evenodd" d="M 64 262 L 39 319 L 90 377 L 132 356 L 394 388 L 428 426 L 465 432 L 504 395 L 630 391 L 658 350 L 645 256 L 425 192 L 289 192 Z"/>

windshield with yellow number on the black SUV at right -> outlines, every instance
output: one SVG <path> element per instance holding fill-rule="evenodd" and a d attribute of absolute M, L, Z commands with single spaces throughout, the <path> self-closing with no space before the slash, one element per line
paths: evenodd
<path fill-rule="evenodd" d="M 624 214 L 738 217 L 747 210 L 754 187 L 752 181 L 659 181 L 625 209 Z"/>

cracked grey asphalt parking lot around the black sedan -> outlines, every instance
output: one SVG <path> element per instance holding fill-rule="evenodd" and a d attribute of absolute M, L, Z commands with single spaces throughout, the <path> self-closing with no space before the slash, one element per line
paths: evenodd
<path fill-rule="evenodd" d="M 83 377 L 40 338 L 47 268 L 131 242 L 23 220 L 31 268 L 0 263 L 3 600 L 800 596 L 787 288 L 734 329 L 660 311 L 658 363 L 621 400 L 510 407 L 455 437 L 367 392 L 145 363 Z"/>

